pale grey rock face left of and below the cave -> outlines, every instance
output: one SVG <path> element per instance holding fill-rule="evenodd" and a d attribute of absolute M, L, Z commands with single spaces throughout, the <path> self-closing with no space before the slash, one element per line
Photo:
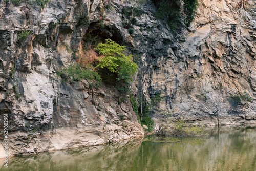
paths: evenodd
<path fill-rule="evenodd" d="M 76 61 L 73 50 L 78 50 L 89 23 L 99 21 L 101 6 L 102 1 L 51 1 L 41 9 L 33 3 L 1 2 L 0 133 L 3 136 L 4 114 L 8 114 L 9 155 L 144 135 L 129 97 L 118 104 L 118 91 L 102 84 L 94 90 L 97 99 L 92 105 L 86 81 L 66 83 L 56 75 Z M 24 8 L 31 11 L 24 13 Z M 25 31 L 29 35 L 20 40 Z M 2 136 L 0 158 L 4 157 Z"/>

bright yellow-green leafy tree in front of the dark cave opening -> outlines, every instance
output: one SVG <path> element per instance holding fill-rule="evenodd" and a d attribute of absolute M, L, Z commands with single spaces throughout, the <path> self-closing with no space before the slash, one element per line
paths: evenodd
<path fill-rule="evenodd" d="M 107 68 L 110 72 L 116 72 L 117 81 L 123 81 L 126 84 L 133 81 L 132 76 L 138 71 L 138 66 L 131 60 L 133 55 L 125 56 L 123 54 L 125 46 L 121 46 L 111 39 L 105 41 L 105 44 L 100 43 L 95 48 L 99 54 L 104 55 L 103 58 L 99 59 L 99 64 L 96 67 Z"/>

